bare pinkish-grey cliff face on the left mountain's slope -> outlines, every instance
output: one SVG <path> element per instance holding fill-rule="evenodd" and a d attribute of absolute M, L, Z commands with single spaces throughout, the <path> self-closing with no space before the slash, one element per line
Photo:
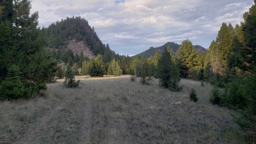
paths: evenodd
<path fill-rule="evenodd" d="M 88 46 L 85 41 L 74 39 L 67 41 L 66 48 L 71 49 L 74 55 L 76 53 L 80 55 L 80 53 L 83 52 L 84 56 L 87 56 L 88 58 L 96 58 L 96 55 L 92 52 L 90 46 Z"/>

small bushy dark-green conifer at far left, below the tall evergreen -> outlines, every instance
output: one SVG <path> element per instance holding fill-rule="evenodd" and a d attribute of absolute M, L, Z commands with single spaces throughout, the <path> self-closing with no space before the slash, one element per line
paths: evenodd
<path fill-rule="evenodd" d="M 20 81 L 19 67 L 12 65 L 8 69 L 8 74 L 0 85 L 0 99 L 12 100 L 24 97 L 25 87 Z"/>

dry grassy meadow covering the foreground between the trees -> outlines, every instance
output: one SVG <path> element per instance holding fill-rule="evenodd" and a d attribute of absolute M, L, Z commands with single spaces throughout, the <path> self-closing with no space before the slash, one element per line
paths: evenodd
<path fill-rule="evenodd" d="M 0 143 L 255 143 L 234 111 L 209 103 L 211 85 L 182 79 L 171 92 L 129 78 L 76 76 L 77 89 L 60 79 L 40 96 L 0 102 Z"/>

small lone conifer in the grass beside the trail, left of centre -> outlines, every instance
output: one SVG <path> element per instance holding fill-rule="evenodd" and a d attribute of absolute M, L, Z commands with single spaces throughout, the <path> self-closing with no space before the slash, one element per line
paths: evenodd
<path fill-rule="evenodd" d="M 69 66 L 69 64 L 67 64 L 65 70 L 65 81 L 63 82 L 63 85 L 68 88 L 76 88 L 79 86 L 79 82 L 80 80 L 75 80 L 75 76 L 72 72 L 72 69 Z"/>

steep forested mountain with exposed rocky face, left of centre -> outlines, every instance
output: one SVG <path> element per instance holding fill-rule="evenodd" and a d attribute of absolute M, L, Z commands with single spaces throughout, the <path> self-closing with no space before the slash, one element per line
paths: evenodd
<path fill-rule="evenodd" d="M 88 21 L 79 17 L 67 17 L 65 20 L 57 21 L 43 28 L 46 33 L 46 47 L 65 51 L 71 49 L 74 55 L 95 58 L 97 54 L 103 54 L 106 50 L 94 28 L 90 27 Z"/>

